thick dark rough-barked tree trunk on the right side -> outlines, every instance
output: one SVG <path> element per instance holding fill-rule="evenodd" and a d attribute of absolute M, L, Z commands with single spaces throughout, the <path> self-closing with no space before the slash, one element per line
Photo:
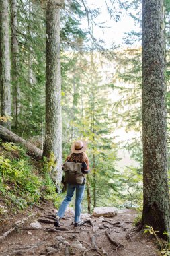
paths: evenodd
<path fill-rule="evenodd" d="M 165 38 L 163 0 L 142 1 L 142 121 L 144 207 L 142 224 L 169 232 Z"/>

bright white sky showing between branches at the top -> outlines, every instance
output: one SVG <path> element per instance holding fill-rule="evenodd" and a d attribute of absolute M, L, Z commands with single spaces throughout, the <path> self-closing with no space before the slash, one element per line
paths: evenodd
<path fill-rule="evenodd" d="M 112 0 L 113 1 L 113 0 Z M 136 32 L 140 32 L 141 28 L 138 23 L 134 22 L 134 19 L 130 17 L 129 13 L 132 13 L 133 15 L 136 15 L 138 11 L 135 11 L 134 9 L 128 9 L 128 13 L 126 10 L 122 9 L 120 13 L 120 9 L 118 7 L 118 4 L 111 5 L 111 1 L 107 0 L 108 6 L 112 7 L 114 13 L 114 18 L 110 18 L 110 13 L 107 11 L 107 5 L 106 0 L 87 0 L 87 6 L 90 9 L 99 9 L 101 12 L 99 15 L 97 15 L 97 18 L 95 18 L 95 22 L 99 23 L 104 28 L 99 28 L 97 26 L 93 26 L 93 36 L 97 38 L 97 40 L 105 40 L 105 46 L 110 47 L 113 45 L 113 42 L 116 43 L 116 45 L 122 45 L 124 44 L 123 38 L 126 37 L 127 32 L 130 32 L 132 30 Z M 131 1 L 129 0 L 129 3 Z M 142 7 L 141 7 L 142 8 Z M 115 9 L 115 10 L 114 10 Z M 139 8 L 140 9 L 140 8 Z M 115 16 L 119 15 L 120 20 L 116 22 Z M 87 19 L 85 19 L 82 22 L 82 27 L 87 28 Z M 140 43 L 139 43 L 140 44 Z"/>

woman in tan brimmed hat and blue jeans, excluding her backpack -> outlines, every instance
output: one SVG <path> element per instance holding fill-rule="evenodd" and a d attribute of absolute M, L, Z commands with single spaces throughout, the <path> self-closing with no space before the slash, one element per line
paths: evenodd
<path fill-rule="evenodd" d="M 81 163 L 82 168 L 81 171 L 85 174 L 89 173 L 89 160 L 87 154 L 85 154 L 85 150 L 87 150 L 87 143 L 85 141 L 75 141 L 75 143 L 71 146 L 71 155 L 67 156 L 66 161 L 69 162 L 78 162 Z M 83 199 L 83 194 L 85 190 L 85 179 L 83 184 L 70 184 L 67 183 L 67 195 L 62 201 L 60 208 L 58 210 L 56 220 L 54 222 L 54 226 L 60 226 L 60 218 L 62 218 L 65 214 L 65 210 L 69 202 L 71 201 L 74 191 L 76 191 L 75 197 L 75 224 L 77 227 L 81 224 L 80 215 L 81 215 L 81 201 Z"/>

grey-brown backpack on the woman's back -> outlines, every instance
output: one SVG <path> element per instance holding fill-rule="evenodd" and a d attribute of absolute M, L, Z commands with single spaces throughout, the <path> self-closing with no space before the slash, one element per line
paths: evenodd
<path fill-rule="evenodd" d="M 84 174 L 81 172 L 82 164 L 79 162 L 65 162 L 63 164 L 65 182 L 71 184 L 83 184 Z"/>

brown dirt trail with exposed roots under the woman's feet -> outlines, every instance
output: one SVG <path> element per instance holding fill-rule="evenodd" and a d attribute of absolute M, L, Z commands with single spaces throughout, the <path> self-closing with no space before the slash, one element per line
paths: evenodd
<path fill-rule="evenodd" d="M 33 214 L 26 220 L 22 227 L 15 228 L 3 241 L 1 241 L 0 255 L 54 255 L 54 256 L 156 256 L 157 250 L 153 241 L 142 235 L 130 238 L 132 222 L 136 217 L 134 210 L 124 210 L 112 218 L 97 218 L 91 216 L 91 223 L 87 222 L 78 228 L 72 224 L 71 213 L 65 214 L 61 220 L 62 229 L 54 231 L 55 210 L 50 203 L 42 203 L 41 209 L 34 207 L 32 210 L 13 216 L 7 223 L 0 227 L 0 236 L 13 227 L 13 224 L 24 217 Z M 44 217 L 45 216 L 45 217 Z M 30 223 L 35 220 L 48 219 L 42 223 L 41 229 L 31 229 Z M 43 220 L 42 220 L 43 221 Z M 91 224 L 93 226 L 91 226 Z M 117 241 L 118 247 L 111 243 L 110 237 Z"/>

